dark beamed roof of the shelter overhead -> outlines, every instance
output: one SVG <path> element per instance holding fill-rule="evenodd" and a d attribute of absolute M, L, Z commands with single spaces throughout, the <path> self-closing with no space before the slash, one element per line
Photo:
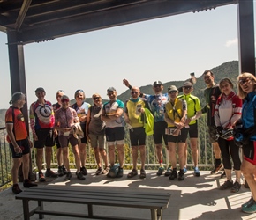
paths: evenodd
<path fill-rule="evenodd" d="M 16 42 L 53 40 L 185 12 L 213 10 L 238 0 L 0 0 L 0 31 Z"/>

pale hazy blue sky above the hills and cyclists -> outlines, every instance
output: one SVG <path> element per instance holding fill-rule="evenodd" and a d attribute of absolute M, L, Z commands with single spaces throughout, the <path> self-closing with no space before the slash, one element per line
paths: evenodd
<path fill-rule="evenodd" d="M 6 43 L 6 33 L 0 32 L 0 109 L 8 108 L 11 99 Z M 36 100 L 37 87 L 52 103 L 59 89 L 70 99 L 78 89 L 87 97 L 97 92 L 108 99 L 110 86 L 117 94 L 127 90 L 124 78 L 136 86 L 166 83 L 185 80 L 191 72 L 200 77 L 204 70 L 238 60 L 237 5 L 30 43 L 24 55 L 28 106 Z"/>

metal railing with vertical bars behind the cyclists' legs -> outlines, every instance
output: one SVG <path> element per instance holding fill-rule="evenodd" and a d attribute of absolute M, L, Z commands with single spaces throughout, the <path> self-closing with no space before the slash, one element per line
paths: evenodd
<path fill-rule="evenodd" d="M 205 118 L 202 117 L 198 121 L 199 123 L 206 124 Z M 214 155 L 213 155 L 213 148 L 211 147 L 211 143 L 207 142 L 207 126 L 200 127 L 204 130 L 199 130 L 199 142 L 198 142 L 198 149 L 199 149 L 199 166 L 203 167 L 204 169 L 208 169 L 210 166 L 214 165 Z M 128 130 L 126 130 L 126 134 L 129 134 Z M 6 128 L 0 128 L 0 187 L 11 182 L 11 150 L 9 149 L 9 143 L 6 142 Z M 147 158 L 146 158 L 146 168 L 147 169 L 156 169 L 159 165 L 157 158 L 155 156 L 155 148 L 154 148 L 154 140 L 153 136 L 147 136 Z M 108 148 L 106 146 L 106 150 Z M 70 155 L 72 157 L 72 148 L 70 147 Z M 168 150 L 163 147 L 163 164 L 169 164 L 169 157 L 168 157 Z M 132 167 L 132 150 L 130 147 L 130 140 L 129 135 L 125 136 L 124 140 L 124 168 L 130 169 Z M 36 170 L 36 163 L 35 163 L 35 149 L 31 151 L 32 157 L 32 170 Z M 45 161 L 45 155 L 43 156 L 43 161 Z M 70 162 L 71 166 L 75 167 L 73 159 Z M 43 162 L 43 166 L 45 168 L 45 162 Z M 56 163 L 56 147 L 53 148 L 52 154 L 52 163 L 53 167 L 57 167 Z M 87 145 L 87 164 L 88 167 L 96 167 L 95 159 L 94 159 L 94 150 Z M 140 161 L 138 161 L 138 165 L 140 165 Z M 187 159 L 187 166 L 192 167 L 192 152 L 190 146 L 188 146 L 188 159 Z"/>

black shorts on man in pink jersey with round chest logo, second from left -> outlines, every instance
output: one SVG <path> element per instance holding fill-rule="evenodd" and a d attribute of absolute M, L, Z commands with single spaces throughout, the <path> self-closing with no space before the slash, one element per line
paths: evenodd
<path fill-rule="evenodd" d="M 43 148 L 54 146 L 54 134 L 53 128 L 41 128 L 35 130 L 35 134 L 38 138 L 37 141 L 34 141 L 34 148 Z"/>

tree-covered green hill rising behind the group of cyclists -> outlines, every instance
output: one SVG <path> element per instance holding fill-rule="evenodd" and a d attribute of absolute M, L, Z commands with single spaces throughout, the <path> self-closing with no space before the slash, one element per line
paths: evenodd
<path fill-rule="evenodd" d="M 232 81 L 232 83 L 234 84 L 235 89 L 237 90 L 237 76 L 239 74 L 238 61 L 224 62 L 224 63 L 222 63 L 222 65 L 217 66 L 210 70 L 212 70 L 215 73 L 215 83 L 219 83 L 219 81 L 222 79 L 222 77 L 229 77 L 230 80 Z M 194 91 L 192 92 L 192 94 L 199 97 L 201 106 L 204 106 L 205 100 L 203 97 L 203 90 L 206 88 L 206 84 L 204 83 L 202 74 L 200 76 L 196 76 L 197 83 L 194 84 Z M 170 77 L 170 79 L 171 79 L 171 77 Z M 186 79 L 186 80 L 188 80 L 188 79 Z M 161 80 L 161 78 L 159 78 L 159 80 Z M 163 92 L 167 92 L 167 88 L 171 84 L 176 85 L 177 88 L 182 86 L 186 80 L 183 80 L 183 81 L 171 81 L 170 80 L 169 82 L 163 83 L 163 86 L 164 86 Z M 143 93 L 147 93 L 147 94 L 153 94 L 152 85 L 151 84 L 142 85 L 140 87 L 140 91 Z M 125 92 L 118 95 L 117 98 L 125 101 L 130 96 L 131 96 L 130 90 L 127 89 Z M 94 103 L 92 98 L 87 98 L 86 101 L 90 104 Z M 105 102 L 105 101 L 107 101 L 107 100 L 102 100 L 102 102 Z M 75 100 L 72 99 L 71 103 L 73 104 L 74 102 L 75 102 Z M 0 127 L 4 126 L 5 112 L 6 112 L 6 109 L 0 109 Z"/>

